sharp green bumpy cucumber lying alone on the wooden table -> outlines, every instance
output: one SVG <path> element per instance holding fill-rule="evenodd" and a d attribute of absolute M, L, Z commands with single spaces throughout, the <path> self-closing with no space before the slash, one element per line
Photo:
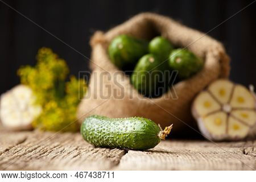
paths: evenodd
<path fill-rule="evenodd" d="M 92 115 L 81 125 L 82 137 L 96 147 L 147 150 L 159 142 L 160 128 L 146 118 L 107 118 Z"/>

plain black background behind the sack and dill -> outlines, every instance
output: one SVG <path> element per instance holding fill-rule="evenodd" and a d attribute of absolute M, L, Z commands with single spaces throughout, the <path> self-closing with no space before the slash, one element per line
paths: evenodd
<path fill-rule="evenodd" d="M 1 0 L 2 1 L 2 0 Z M 19 83 L 20 65 L 35 64 L 40 47 L 52 48 L 64 58 L 73 75 L 88 70 L 89 61 L 0 1 L 0 93 Z M 11 7 L 90 57 L 89 38 L 131 16 L 151 11 L 208 32 L 250 1 L 7 1 Z M 226 47 L 232 62 L 230 78 L 256 85 L 256 2 L 209 32 Z"/>

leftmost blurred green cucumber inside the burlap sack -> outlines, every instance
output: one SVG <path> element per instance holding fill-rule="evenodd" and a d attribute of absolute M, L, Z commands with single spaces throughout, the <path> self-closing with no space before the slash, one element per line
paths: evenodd
<path fill-rule="evenodd" d="M 118 68 L 134 65 L 148 52 L 148 43 L 127 35 L 119 35 L 108 48 L 109 57 Z"/>

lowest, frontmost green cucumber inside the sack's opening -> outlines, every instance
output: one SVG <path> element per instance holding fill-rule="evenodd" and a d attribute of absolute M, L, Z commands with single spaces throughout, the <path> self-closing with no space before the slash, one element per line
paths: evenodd
<path fill-rule="evenodd" d="M 158 56 L 147 54 L 139 59 L 133 74 L 131 84 L 139 93 L 146 97 L 154 97 L 160 82 L 164 82 L 164 65 Z"/>

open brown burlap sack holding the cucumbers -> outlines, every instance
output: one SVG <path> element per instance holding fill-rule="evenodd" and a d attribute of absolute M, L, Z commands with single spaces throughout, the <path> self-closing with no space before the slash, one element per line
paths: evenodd
<path fill-rule="evenodd" d="M 205 60 L 204 68 L 197 75 L 178 82 L 162 97 L 145 98 L 130 84 L 129 77 L 118 70 L 109 59 L 108 44 L 115 36 L 127 34 L 140 39 L 152 39 L 156 35 L 166 37 L 177 47 L 186 47 Z M 110 118 L 140 116 L 150 118 L 161 126 L 174 123 L 174 130 L 191 125 L 191 101 L 210 82 L 229 75 L 229 57 L 220 42 L 166 16 L 142 13 L 106 33 L 96 32 L 92 46 L 92 75 L 89 89 L 79 105 L 77 117 L 83 121 L 91 114 Z M 118 72 L 118 76 L 114 75 Z M 106 73 L 102 77 L 102 73 Z M 172 96 L 177 95 L 177 99 Z M 115 94 L 113 94 L 115 93 Z M 116 94 L 121 97 L 116 98 Z M 102 98 L 101 96 L 105 97 Z"/>

